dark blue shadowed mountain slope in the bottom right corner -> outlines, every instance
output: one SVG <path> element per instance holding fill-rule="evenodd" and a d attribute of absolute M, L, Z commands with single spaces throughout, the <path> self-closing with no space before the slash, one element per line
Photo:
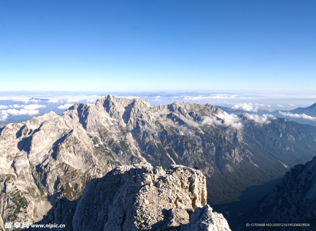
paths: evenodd
<path fill-rule="evenodd" d="M 251 217 L 250 222 L 310 223 L 308 227 L 281 230 L 315 230 L 316 157 L 305 165 L 291 168 L 272 191 L 245 215 Z"/>

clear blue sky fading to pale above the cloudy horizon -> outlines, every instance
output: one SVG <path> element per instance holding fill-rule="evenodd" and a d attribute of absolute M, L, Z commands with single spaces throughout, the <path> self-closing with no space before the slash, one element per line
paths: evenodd
<path fill-rule="evenodd" d="M 315 93 L 315 12 L 315 0 L 0 0 L 0 91 Z"/>

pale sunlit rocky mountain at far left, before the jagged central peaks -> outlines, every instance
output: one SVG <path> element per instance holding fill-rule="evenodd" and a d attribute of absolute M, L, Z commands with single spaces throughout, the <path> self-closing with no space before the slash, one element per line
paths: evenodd
<path fill-rule="evenodd" d="M 36 222 L 58 196 L 77 199 L 88 181 L 117 165 L 94 147 L 82 127 L 55 113 L 5 126 L 0 142 L 4 221 Z"/>

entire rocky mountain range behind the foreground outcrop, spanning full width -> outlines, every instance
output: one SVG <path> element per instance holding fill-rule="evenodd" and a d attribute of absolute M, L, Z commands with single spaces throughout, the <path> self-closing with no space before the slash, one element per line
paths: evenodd
<path fill-rule="evenodd" d="M 195 167 L 206 176 L 209 204 L 231 202 L 246 187 L 282 176 L 316 151 L 313 126 L 260 122 L 209 104 L 152 106 L 113 95 L 92 106 L 76 103 L 63 116 L 51 112 L 8 124 L 0 132 L 3 221 L 39 221 L 56 198 L 75 200 L 92 178 L 140 161 Z"/>

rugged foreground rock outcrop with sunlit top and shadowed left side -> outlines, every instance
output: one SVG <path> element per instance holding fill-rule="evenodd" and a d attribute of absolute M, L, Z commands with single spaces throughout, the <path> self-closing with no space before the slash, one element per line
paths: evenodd
<path fill-rule="evenodd" d="M 199 170 L 149 163 L 120 166 L 93 179 L 75 200 L 57 200 L 38 224 L 65 224 L 62 230 L 230 230 L 222 214 L 206 204 L 205 176 Z M 58 230 L 58 229 L 56 229 Z"/>

